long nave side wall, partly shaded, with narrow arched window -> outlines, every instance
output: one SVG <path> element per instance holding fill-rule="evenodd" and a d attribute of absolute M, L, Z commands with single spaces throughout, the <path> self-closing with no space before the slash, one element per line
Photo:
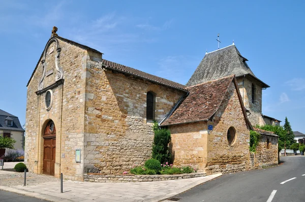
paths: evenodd
<path fill-rule="evenodd" d="M 154 133 L 146 123 L 146 92 L 156 94 L 160 122 L 186 93 L 87 63 L 84 172 L 116 174 L 150 158 Z"/>

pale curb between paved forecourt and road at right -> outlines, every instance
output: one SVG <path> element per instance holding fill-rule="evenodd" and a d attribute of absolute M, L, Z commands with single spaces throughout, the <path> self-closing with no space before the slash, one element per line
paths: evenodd
<path fill-rule="evenodd" d="M 193 187 L 196 187 L 196 186 L 198 186 L 198 185 L 200 185 L 202 183 L 205 183 L 205 182 L 208 182 L 208 181 L 213 180 L 215 178 L 218 178 L 220 176 L 222 176 L 222 173 L 214 174 L 214 175 L 209 175 L 209 176 L 204 177 L 204 179 L 202 179 L 202 180 L 198 180 L 198 181 L 193 182 L 191 184 L 188 184 L 188 185 L 186 185 L 184 187 L 181 187 L 180 189 L 175 190 L 175 192 L 167 193 L 167 194 L 164 194 L 162 196 L 158 196 L 156 198 L 151 198 L 151 199 L 144 200 L 144 201 L 147 201 L 147 202 L 158 202 L 158 201 L 162 201 L 162 200 L 170 201 L 170 200 L 166 200 L 166 199 L 170 198 L 170 197 L 172 197 L 174 195 L 177 195 L 179 193 L 185 192 L 185 191 L 187 191 L 189 189 L 192 189 Z"/>

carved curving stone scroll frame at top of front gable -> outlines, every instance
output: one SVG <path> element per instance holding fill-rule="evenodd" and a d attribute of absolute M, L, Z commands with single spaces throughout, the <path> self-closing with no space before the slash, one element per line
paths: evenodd
<path fill-rule="evenodd" d="M 39 83 L 39 87 L 38 87 L 38 90 L 42 90 L 43 89 L 43 80 L 46 76 L 46 70 L 47 70 L 47 64 L 45 62 L 45 59 L 46 59 L 46 54 L 47 54 L 47 50 L 49 48 L 49 46 L 51 45 L 52 42 L 55 42 L 56 43 L 56 51 L 57 51 L 57 54 L 55 55 L 55 67 L 56 67 L 56 70 L 57 70 L 57 73 L 56 73 L 56 76 L 55 76 L 55 82 L 60 80 L 60 79 L 63 79 L 64 78 L 64 71 L 63 71 L 63 68 L 61 68 L 60 66 L 58 66 L 58 59 L 59 59 L 59 54 L 60 54 L 60 50 L 62 50 L 61 48 L 59 48 L 59 43 L 58 43 L 58 40 L 56 38 L 51 38 L 45 49 L 44 49 L 44 52 L 43 52 L 43 58 L 41 60 L 41 63 L 42 63 L 42 68 L 43 68 L 43 74 L 42 74 L 42 78 L 40 80 L 40 83 Z"/>

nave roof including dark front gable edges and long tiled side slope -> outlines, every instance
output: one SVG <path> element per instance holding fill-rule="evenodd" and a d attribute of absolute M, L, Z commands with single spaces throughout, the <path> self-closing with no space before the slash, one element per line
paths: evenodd
<path fill-rule="evenodd" d="M 77 42 L 74 42 L 74 41 L 59 37 L 59 36 L 53 36 L 53 38 L 62 40 L 64 42 L 67 42 L 67 43 L 70 43 L 70 44 L 73 44 L 73 45 L 78 46 L 78 47 L 80 47 L 84 50 L 92 50 L 92 51 L 101 53 L 96 49 L 90 48 L 88 46 L 79 44 Z M 28 80 L 26 86 L 28 86 L 29 82 L 31 81 L 32 77 L 34 76 L 34 74 L 35 74 L 35 72 L 38 68 L 39 61 L 41 60 L 42 56 L 43 56 L 43 52 L 40 56 L 40 59 L 38 60 L 38 63 L 36 65 L 35 70 L 32 73 L 31 78 Z M 182 84 L 179 84 L 179 83 L 176 83 L 176 82 L 173 82 L 173 81 L 161 78 L 161 77 L 157 77 L 157 76 L 154 76 L 154 75 L 136 70 L 134 68 L 130 68 L 129 66 L 125 66 L 123 64 L 118 64 L 118 63 L 115 63 L 115 62 L 112 62 L 112 61 L 109 61 L 109 60 L 102 59 L 102 62 L 105 65 L 105 68 L 107 68 L 107 69 L 115 70 L 115 71 L 118 71 L 118 72 L 121 72 L 121 73 L 124 73 L 124 74 L 133 75 L 133 76 L 140 77 L 142 79 L 145 79 L 145 80 L 148 80 L 148 81 L 151 81 L 151 82 L 154 82 L 154 83 L 159 83 L 159 84 L 162 84 L 162 85 L 166 85 L 166 86 L 170 86 L 170 87 L 173 87 L 173 88 L 177 88 L 177 89 L 186 91 L 186 86 L 185 85 L 182 85 Z"/>

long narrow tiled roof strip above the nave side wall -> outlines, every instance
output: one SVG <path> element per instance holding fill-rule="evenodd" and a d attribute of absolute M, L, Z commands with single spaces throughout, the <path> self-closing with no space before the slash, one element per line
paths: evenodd
<path fill-rule="evenodd" d="M 151 75 L 151 74 L 142 72 L 140 70 L 130 68 L 129 66 L 125 66 L 123 64 L 118 64 L 118 63 L 115 63 L 115 62 L 111 62 L 111 61 L 105 60 L 105 59 L 102 59 L 102 62 L 106 66 L 107 69 L 119 71 L 119 72 L 122 72 L 122 73 L 127 73 L 127 74 L 134 75 L 134 76 L 138 76 L 138 77 L 143 78 L 145 80 L 149 80 L 149 81 L 156 82 L 156 83 L 159 83 L 159 84 L 163 84 L 163 85 L 166 85 L 166 86 L 178 88 L 178 89 L 181 89 L 181 90 L 186 90 L 185 85 L 182 85 L 182 84 L 179 84 L 179 83 L 167 80 L 167 79 L 163 79 L 161 77 L 157 77 L 155 75 Z"/>

